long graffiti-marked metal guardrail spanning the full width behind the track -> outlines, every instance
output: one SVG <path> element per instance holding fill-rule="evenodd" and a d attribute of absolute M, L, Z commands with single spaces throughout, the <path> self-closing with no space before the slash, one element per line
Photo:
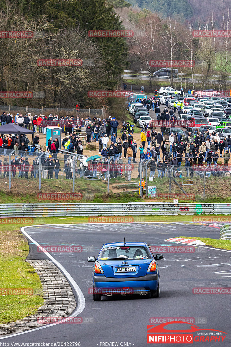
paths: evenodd
<path fill-rule="evenodd" d="M 0 204 L 0 218 L 177 214 L 231 214 L 231 204 L 174 204 L 173 202 Z"/>

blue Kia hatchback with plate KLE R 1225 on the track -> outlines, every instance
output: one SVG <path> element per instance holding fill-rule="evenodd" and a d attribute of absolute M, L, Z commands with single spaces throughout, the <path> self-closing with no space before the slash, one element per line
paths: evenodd
<path fill-rule="evenodd" d="M 157 260 L 146 242 L 105 243 L 96 257 L 92 272 L 93 300 L 100 301 L 102 295 L 141 294 L 159 297 L 159 270 Z"/>

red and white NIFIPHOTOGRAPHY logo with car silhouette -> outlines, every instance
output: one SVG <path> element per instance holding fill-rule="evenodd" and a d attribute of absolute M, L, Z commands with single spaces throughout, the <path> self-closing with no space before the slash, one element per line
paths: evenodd
<path fill-rule="evenodd" d="M 172 324 L 187 324 L 186 329 L 171 329 Z M 166 326 L 168 327 L 166 328 Z M 195 333 L 193 335 L 193 333 Z M 193 344 L 193 342 L 223 342 L 226 332 L 201 329 L 194 324 L 174 321 L 159 325 L 147 325 L 148 344 Z"/>

